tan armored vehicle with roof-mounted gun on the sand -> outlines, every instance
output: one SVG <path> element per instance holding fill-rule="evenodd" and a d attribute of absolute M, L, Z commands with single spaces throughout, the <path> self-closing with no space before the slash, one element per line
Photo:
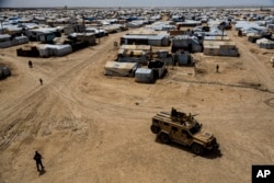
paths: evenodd
<path fill-rule="evenodd" d="M 191 147 L 195 155 L 217 149 L 219 145 L 214 135 L 205 131 L 194 116 L 172 107 L 171 113 L 160 112 L 153 116 L 150 129 L 163 144 L 174 141 Z"/>

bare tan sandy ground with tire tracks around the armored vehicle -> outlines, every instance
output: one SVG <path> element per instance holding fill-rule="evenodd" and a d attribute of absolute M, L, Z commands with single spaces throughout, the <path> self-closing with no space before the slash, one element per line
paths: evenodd
<path fill-rule="evenodd" d="M 199 72 L 169 67 L 165 78 L 141 84 L 103 75 L 123 34 L 66 57 L 31 58 L 32 69 L 16 56 L 21 46 L 0 50 L 13 73 L 0 81 L 0 183 L 239 183 L 251 182 L 252 164 L 274 164 L 274 50 L 230 31 L 239 58 L 195 54 Z M 220 151 L 198 157 L 158 142 L 151 117 L 172 106 L 198 114 Z"/>

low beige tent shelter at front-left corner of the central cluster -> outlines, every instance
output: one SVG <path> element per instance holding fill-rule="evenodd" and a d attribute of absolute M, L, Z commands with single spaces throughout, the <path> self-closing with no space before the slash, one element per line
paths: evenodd
<path fill-rule="evenodd" d="M 136 62 L 106 61 L 104 66 L 106 76 L 134 77 L 138 65 Z"/>

